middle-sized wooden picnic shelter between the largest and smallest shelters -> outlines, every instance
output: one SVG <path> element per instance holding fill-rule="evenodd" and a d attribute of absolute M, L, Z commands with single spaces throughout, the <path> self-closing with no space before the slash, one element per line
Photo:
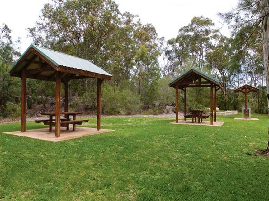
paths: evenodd
<path fill-rule="evenodd" d="M 194 87 L 210 87 L 210 125 L 213 125 L 213 110 L 214 122 L 216 122 L 216 107 L 217 107 L 217 91 L 223 87 L 219 80 L 210 75 L 205 74 L 199 69 L 190 68 L 173 79 L 169 83 L 170 87 L 176 90 L 176 123 L 178 123 L 178 89 L 184 91 L 184 120 L 187 118 L 187 88 Z M 213 109 L 213 89 L 214 89 L 214 109 Z M 193 117 L 192 117 L 193 118 Z M 195 117 L 196 118 L 196 117 Z M 199 117 L 198 117 L 199 119 Z"/>

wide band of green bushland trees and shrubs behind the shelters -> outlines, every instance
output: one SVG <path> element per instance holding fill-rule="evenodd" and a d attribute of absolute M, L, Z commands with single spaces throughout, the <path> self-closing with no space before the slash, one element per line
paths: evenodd
<path fill-rule="evenodd" d="M 217 96 L 220 109 L 240 110 L 244 99 L 233 90 L 247 83 L 260 88 L 257 94 L 249 94 L 252 111 L 265 113 L 262 36 L 252 26 L 240 23 L 241 26 L 231 25 L 229 38 L 219 33 L 211 19 L 193 17 L 188 25 L 179 28 L 175 38 L 166 42 L 153 25 L 142 24 L 139 16 L 129 12 L 121 13 L 113 1 L 54 0 L 44 5 L 40 19 L 28 31 L 35 44 L 85 58 L 112 74 L 112 80 L 102 84 L 104 114 L 141 114 L 143 109 L 150 114 L 163 113 L 165 106 L 175 105 L 175 91 L 168 86 L 169 81 L 190 67 L 200 68 L 221 81 L 224 88 Z M 3 25 L 0 116 L 7 115 L 7 102 L 20 102 L 20 79 L 7 73 L 19 56 L 19 40 L 13 42 L 10 33 Z M 96 84 L 96 79 L 70 81 L 69 109 L 95 113 Z M 209 107 L 208 89 L 187 91 L 188 109 Z M 27 109 L 36 105 L 54 109 L 53 82 L 27 79 L 26 92 Z M 181 110 L 183 100 L 180 90 Z"/>

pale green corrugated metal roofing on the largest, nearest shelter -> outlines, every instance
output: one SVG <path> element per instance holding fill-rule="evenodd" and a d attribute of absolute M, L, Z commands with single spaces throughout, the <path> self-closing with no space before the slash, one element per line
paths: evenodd
<path fill-rule="evenodd" d="M 111 76 L 111 74 L 107 73 L 97 65 L 93 64 L 89 60 L 82 59 L 76 56 L 64 54 L 62 52 L 50 50 L 45 47 L 39 47 L 36 45 L 31 44 L 27 50 L 21 55 L 21 57 L 17 60 L 17 62 L 13 65 L 12 69 L 10 69 L 9 72 L 11 72 L 16 65 L 18 64 L 19 60 L 26 54 L 27 51 L 29 51 L 30 48 L 34 48 L 36 51 L 38 51 L 40 54 L 42 54 L 46 59 L 50 60 L 55 66 L 65 66 L 68 68 L 74 68 L 74 69 L 80 69 L 89 71 L 92 73 L 102 74 Z"/>

